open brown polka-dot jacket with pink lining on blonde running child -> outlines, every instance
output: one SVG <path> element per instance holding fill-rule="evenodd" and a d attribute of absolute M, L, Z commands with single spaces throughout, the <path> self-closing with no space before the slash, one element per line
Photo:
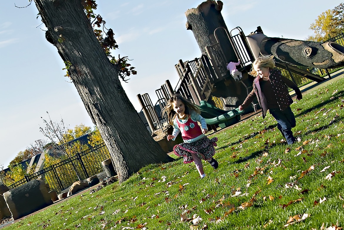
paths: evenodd
<path fill-rule="evenodd" d="M 298 98 L 302 98 L 302 93 L 297 85 L 294 82 L 290 81 L 286 77 L 281 74 L 281 71 L 278 69 L 271 69 L 270 73 L 270 82 L 272 86 L 273 93 L 276 95 L 277 103 L 279 108 L 283 111 L 284 109 L 288 108 L 293 100 L 291 99 L 288 87 L 292 88 Z M 262 108 L 262 116 L 263 118 L 266 116 L 266 112 L 268 111 L 269 107 L 265 98 L 265 95 L 260 90 L 259 85 L 260 77 L 257 76 L 253 81 L 253 90 L 247 95 L 244 103 L 241 105 L 243 108 L 247 107 L 255 97 L 257 97 L 260 107 Z"/>

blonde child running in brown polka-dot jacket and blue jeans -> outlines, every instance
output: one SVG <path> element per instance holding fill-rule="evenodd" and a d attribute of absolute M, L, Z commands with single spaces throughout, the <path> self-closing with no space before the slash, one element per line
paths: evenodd
<path fill-rule="evenodd" d="M 270 114 L 277 121 L 277 128 L 287 139 L 288 145 L 293 144 L 296 139 L 291 128 L 296 126 L 296 122 L 290 108 L 293 100 L 287 86 L 295 91 L 297 100 L 302 99 L 301 91 L 295 83 L 284 77 L 281 71 L 275 68 L 273 55 L 259 56 L 253 62 L 253 68 L 249 74 L 257 77 L 253 81 L 253 90 L 248 94 L 244 103 L 239 106 L 239 109 L 243 110 L 257 97 L 262 108 L 263 118 L 269 109 Z"/>

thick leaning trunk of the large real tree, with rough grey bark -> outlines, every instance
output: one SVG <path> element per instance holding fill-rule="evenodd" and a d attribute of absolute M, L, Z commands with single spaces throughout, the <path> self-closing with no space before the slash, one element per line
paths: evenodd
<path fill-rule="evenodd" d="M 72 64 L 69 75 L 109 149 L 119 182 L 144 165 L 173 160 L 147 135 L 120 84 L 118 67 L 101 48 L 81 2 L 34 1 L 48 28 L 47 37 L 62 59 Z"/>

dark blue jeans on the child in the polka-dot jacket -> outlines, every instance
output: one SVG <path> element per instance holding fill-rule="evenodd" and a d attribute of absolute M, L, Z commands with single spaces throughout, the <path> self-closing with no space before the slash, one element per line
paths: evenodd
<path fill-rule="evenodd" d="M 291 108 L 286 108 L 281 111 L 278 108 L 269 109 L 270 114 L 277 121 L 277 128 L 282 133 L 283 137 L 286 138 L 288 145 L 293 144 L 296 139 L 291 132 L 291 128 L 296 126 L 295 116 L 291 111 Z"/>

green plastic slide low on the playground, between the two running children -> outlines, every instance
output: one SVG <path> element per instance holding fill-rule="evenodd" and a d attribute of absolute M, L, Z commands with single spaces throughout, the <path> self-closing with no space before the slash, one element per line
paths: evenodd
<path fill-rule="evenodd" d="M 228 127 L 240 121 L 239 108 L 225 111 L 209 104 L 206 101 L 200 101 L 201 116 L 205 119 L 208 125 L 219 125 L 221 128 Z"/>

